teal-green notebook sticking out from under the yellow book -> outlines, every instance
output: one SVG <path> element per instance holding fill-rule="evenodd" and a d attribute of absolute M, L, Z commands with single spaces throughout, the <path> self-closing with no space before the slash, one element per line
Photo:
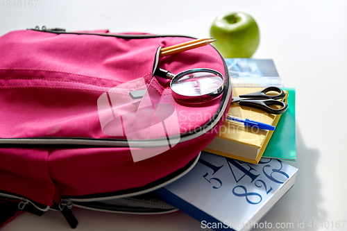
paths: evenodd
<path fill-rule="evenodd" d="M 280 117 L 262 156 L 296 161 L 295 89 L 285 87 L 282 89 L 288 91 L 288 108 Z"/>

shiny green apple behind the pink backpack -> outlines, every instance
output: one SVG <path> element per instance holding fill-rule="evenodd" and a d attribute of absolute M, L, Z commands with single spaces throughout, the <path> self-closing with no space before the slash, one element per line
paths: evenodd
<path fill-rule="evenodd" d="M 257 23 L 244 12 L 226 12 L 212 23 L 213 46 L 224 58 L 251 58 L 257 50 L 260 34 Z"/>

